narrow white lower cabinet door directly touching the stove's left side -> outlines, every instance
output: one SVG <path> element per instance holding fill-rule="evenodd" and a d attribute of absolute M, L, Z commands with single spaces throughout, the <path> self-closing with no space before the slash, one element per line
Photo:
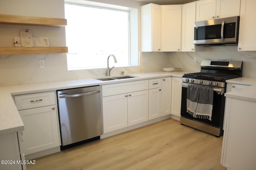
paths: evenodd
<path fill-rule="evenodd" d="M 182 78 L 172 77 L 171 114 L 180 117 Z"/>

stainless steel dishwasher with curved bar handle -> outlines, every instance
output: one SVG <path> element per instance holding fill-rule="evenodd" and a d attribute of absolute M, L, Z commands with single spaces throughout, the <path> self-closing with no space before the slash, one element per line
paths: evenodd
<path fill-rule="evenodd" d="M 100 139 L 102 105 L 100 86 L 58 90 L 61 150 Z"/>

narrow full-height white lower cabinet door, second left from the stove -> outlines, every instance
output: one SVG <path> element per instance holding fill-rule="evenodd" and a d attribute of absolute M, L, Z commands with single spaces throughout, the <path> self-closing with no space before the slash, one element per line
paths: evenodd
<path fill-rule="evenodd" d="M 172 77 L 162 78 L 162 107 L 161 116 L 171 114 Z"/>

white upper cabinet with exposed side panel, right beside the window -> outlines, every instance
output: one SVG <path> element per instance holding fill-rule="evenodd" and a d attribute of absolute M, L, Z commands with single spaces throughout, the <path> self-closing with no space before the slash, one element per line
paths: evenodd
<path fill-rule="evenodd" d="M 141 7 L 141 51 L 161 50 L 161 6 L 147 4 Z"/>

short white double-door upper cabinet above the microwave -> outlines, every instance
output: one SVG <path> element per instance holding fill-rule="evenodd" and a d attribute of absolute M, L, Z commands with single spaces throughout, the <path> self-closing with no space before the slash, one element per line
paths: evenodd
<path fill-rule="evenodd" d="M 240 0 L 200 0 L 196 2 L 196 22 L 239 16 Z"/>

